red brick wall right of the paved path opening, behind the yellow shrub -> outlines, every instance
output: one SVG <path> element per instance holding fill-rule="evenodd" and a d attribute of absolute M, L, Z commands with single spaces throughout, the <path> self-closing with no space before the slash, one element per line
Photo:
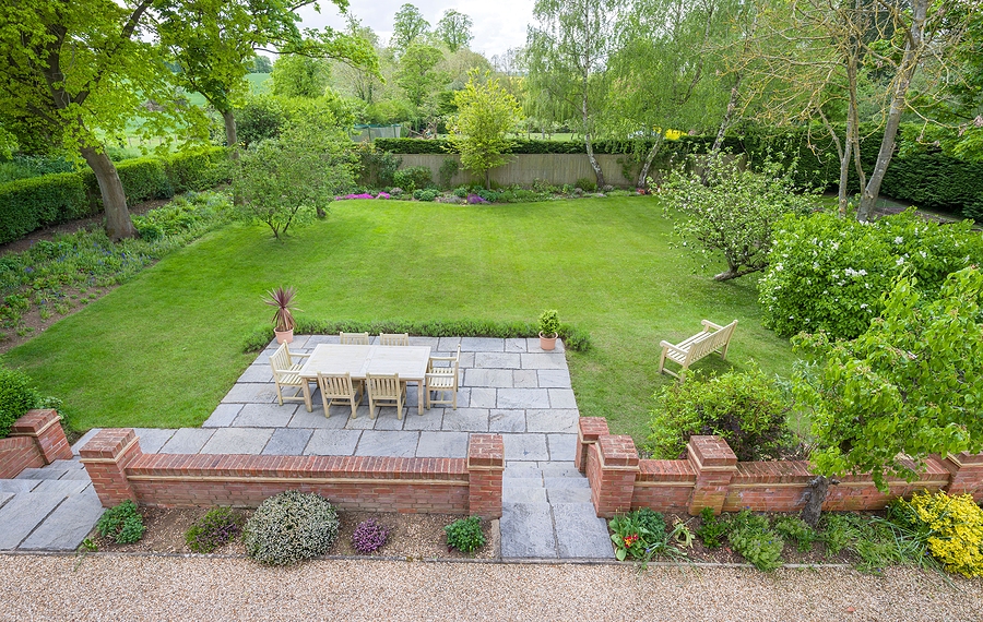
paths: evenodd
<path fill-rule="evenodd" d="M 580 419 L 577 464 L 591 483 L 591 499 L 599 516 L 651 507 L 659 512 L 699 514 L 744 509 L 797 512 L 815 477 L 803 460 L 737 462 L 720 436 L 691 436 L 687 458 L 639 459 L 630 436 L 608 433 L 602 418 Z M 915 491 L 969 492 L 983 500 L 983 455 L 931 457 L 915 481 L 888 479 L 887 494 L 869 476 L 845 476 L 832 486 L 822 509 L 827 511 L 879 510 L 897 497 Z"/>

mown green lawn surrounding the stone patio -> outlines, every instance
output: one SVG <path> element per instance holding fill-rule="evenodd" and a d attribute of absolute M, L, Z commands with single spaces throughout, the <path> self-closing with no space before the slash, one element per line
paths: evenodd
<path fill-rule="evenodd" d="M 568 352 L 583 416 L 640 441 L 660 339 L 708 318 L 741 321 L 726 363 L 754 358 L 786 374 L 789 344 L 761 327 L 754 277 L 714 283 L 671 249 L 658 199 L 608 198 L 473 207 L 343 201 L 330 217 L 274 241 L 234 225 L 169 255 L 88 308 L 11 350 L 67 405 L 69 424 L 200 424 L 252 360 L 245 336 L 271 315 L 261 297 L 298 289 L 299 316 L 535 321 L 544 308 L 591 333 Z M 272 332 L 271 332 L 272 337 Z"/>

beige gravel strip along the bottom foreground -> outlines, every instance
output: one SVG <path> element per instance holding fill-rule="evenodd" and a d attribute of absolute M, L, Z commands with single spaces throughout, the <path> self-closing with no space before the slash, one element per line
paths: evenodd
<path fill-rule="evenodd" d="M 966 620 L 979 581 L 849 570 L 0 555 L 0 620 Z M 852 610 L 851 610 L 852 608 Z"/>

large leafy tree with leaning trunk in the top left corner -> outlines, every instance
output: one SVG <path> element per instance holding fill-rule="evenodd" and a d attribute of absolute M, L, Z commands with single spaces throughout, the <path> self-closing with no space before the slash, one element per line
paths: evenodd
<path fill-rule="evenodd" d="M 95 174 L 111 239 L 135 236 L 105 142 L 164 131 L 179 110 L 170 71 L 146 40 L 152 0 L 8 2 L 0 11 L 0 110 L 4 127 L 84 159 Z M 145 107 L 147 101 L 154 106 Z M 170 123 L 162 123 L 169 121 Z"/>

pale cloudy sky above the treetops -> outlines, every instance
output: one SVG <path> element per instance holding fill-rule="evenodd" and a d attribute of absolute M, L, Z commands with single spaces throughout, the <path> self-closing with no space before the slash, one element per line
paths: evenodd
<path fill-rule="evenodd" d="M 405 3 L 406 0 L 350 0 L 348 12 L 375 31 L 380 41 L 388 44 L 392 35 L 393 15 Z M 430 27 L 437 25 L 448 9 L 471 17 L 474 39 L 470 47 L 488 59 L 505 53 L 509 48 L 525 45 L 525 27 L 533 21 L 533 0 L 415 0 L 411 3 L 419 9 Z M 297 12 L 303 19 L 301 26 L 343 28 L 345 20 L 337 7 L 323 0 L 320 4 L 320 14 L 311 7 Z"/>

